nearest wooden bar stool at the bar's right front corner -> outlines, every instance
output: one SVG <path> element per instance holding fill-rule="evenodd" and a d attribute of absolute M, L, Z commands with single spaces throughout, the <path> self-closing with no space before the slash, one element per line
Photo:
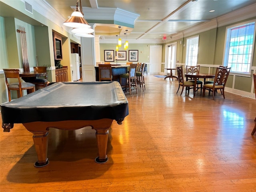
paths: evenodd
<path fill-rule="evenodd" d="M 136 80 L 136 68 L 137 68 L 137 64 L 130 64 L 130 69 L 128 73 L 125 74 L 121 74 L 120 75 L 120 85 L 122 87 L 126 88 L 126 92 L 127 89 L 129 88 L 129 92 L 131 94 L 131 88 L 134 86 L 136 87 L 136 93 L 138 94 L 138 90 L 137 90 L 137 80 Z M 126 84 L 122 85 L 122 78 L 126 78 Z"/>

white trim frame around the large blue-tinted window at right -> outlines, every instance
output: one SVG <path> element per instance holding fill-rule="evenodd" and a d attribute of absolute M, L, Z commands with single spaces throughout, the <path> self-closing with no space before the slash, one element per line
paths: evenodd
<path fill-rule="evenodd" d="M 228 57 L 226 57 L 225 53 L 227 51 L 227 48 L 228 48 L 228 44 L 227 44 L 227 36 L 228 36 L 228 29 L 230 28 L 234 28 L 234 27 L 238 27 L 238 26 L 242 26 L 242 25 L 246 25 L 246 24 L 249 24 L 249 23 L 252 23 L 252 22 L 255 22 L 255 27 L 254 27 L 254 39 L 253 39 L 253 43 L 252 43 L 252 56 L 251 56 L 251 61 L 250 61 L 250 70 L 249 72 L 231 72 L 230 71 L 230 74 L 232 75 L 237 75 L 237 76 L 246 76 L 246 77 L 250 77 L 252 75 L 252 62 L 253 62 L 253 57 L 254 57 L 254 51 L 255 51 L 255 36 L 256 36 L 256 19 L 254 20 L 249 20 L 249 21 L 246 21 L 246 22 L 242 22 L 242 23 L 238 23 L 238 24 L 234 24 L 234 25 L 230 25 L 230 26 L 227 26 L 226 27 L 226 34 L 225 34 L 225 44 L 224 44 L 224 53 L 223 53 L 223 59 L 222 59 L 222 65 L 223 66 L 226 66 L 228 64 L 227 60 L 228 60 Z"/>

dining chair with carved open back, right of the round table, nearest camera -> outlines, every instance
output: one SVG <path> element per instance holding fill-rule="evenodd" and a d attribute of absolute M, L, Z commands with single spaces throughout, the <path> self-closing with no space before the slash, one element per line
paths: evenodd
<path fill-rule="evenodd" d="M 219 89 L 222 92 L 223 98 L 225 98 L 224 88 L 228 80 L 229 72 L 230 68 L 217 67 L 213 83 L 204 84 L 203 86 L 203 97 L 205 96 L 205 90 L 208 89 L 212 92 L 212 99 L 214 99 L 216 94 L 215 90 Z"/>

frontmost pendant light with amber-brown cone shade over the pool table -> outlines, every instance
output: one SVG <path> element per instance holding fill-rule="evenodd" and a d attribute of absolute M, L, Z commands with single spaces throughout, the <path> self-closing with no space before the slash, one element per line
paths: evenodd
<path fill-rule="evenodd" d="M 88 22 L 84 19 L 83 12 L 82 12 L 82 3 L 80 0 L 80 9 L 78 9 L 78 1 L 76 2 L 76 10 L 71 14 L 71 17 L 68 18 L 63 24 L 68 27 L 72 28 L 90 28 Z"/>

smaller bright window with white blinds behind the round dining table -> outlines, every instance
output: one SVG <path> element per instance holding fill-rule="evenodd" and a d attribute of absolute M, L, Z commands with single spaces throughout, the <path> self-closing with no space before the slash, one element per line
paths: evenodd
<path fill-rule="evenodd" d="M 187 39 L 186 65 L 196 66 L 199 36 Z"/>

